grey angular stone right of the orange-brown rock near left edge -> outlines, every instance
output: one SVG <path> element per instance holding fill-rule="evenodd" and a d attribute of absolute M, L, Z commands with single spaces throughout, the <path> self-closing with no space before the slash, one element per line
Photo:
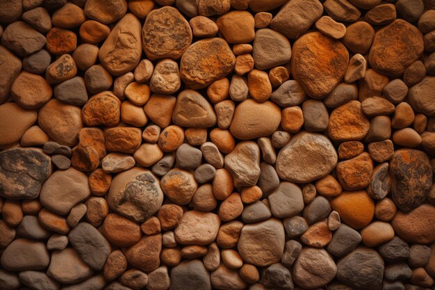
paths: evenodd
<path fill-rule="evenodd" d="M 54 88 L 54 97 L 65 104 L 83 106 L 88 102 L 85 80 L 81 76 L 74 76 L 58 84 Z"/>

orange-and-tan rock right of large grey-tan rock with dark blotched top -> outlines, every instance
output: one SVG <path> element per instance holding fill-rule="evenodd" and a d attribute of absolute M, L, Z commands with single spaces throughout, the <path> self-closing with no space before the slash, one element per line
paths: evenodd
<path fill-rule="evenodd" d="M 188 204 L 192 200 L 198 184 L 192 172 L 174 168 L 161 180 L 162 191 L 176 204 Z"/>

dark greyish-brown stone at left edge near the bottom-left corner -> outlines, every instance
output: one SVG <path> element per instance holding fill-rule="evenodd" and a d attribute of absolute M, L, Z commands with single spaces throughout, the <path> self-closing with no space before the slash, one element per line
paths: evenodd
<path fill-rule="evenodd" d="M 3 250 L 0 263 L 7 271 L 44 270 L 50 256 L 43 242 L 16 239 Z"/>

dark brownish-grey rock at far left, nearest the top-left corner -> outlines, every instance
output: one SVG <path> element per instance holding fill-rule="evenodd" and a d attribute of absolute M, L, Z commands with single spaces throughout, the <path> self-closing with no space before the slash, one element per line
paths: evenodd
<path fill-rule="evenodd" d="M 18 56 L 33 54 L 44 47 L 47 40 L 25 22 L 9 24 L 1 35 L 1 45 Z"/>

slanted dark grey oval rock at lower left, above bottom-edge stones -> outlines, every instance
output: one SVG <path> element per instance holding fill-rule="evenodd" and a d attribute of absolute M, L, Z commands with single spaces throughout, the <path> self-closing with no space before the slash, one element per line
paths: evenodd
<path fill-rule="evenodd" d="M 94 270 L 101 270 L 110 255 L 110 243 L 88 223 L 79 223 L 68 234 L 69 243 L 81 259 Z"/>

